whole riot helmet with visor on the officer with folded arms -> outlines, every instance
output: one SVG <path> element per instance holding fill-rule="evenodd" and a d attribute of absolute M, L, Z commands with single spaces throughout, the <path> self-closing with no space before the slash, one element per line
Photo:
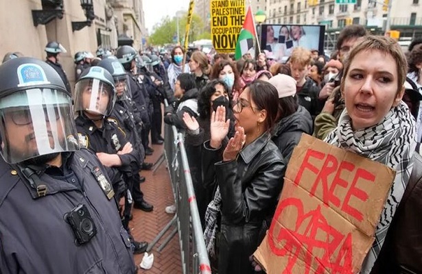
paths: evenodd
<path fill-rule="evenodd" d="M 91 119 L 109 116 L 116 101 L 113 76 L 106 69 L 91 66 L 85 69 L 75 85 L 75 112 L 84 112 Z"/>

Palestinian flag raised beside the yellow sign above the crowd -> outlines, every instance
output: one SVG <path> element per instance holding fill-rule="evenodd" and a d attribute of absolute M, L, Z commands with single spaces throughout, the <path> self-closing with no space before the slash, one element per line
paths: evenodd
<path fill-rule="evenodd" d="M 257 37 L 255 24 L 253 23 L 252 10 L 248 7 L 246 12 L 245 21 L 242 30 L 240 31 L 239 38 L 237 38 L 235 59 L 239 60 L 242 56 L 253 49 L 253 40 Z M 253 53 L 254 51 L 252 51 Z"/>

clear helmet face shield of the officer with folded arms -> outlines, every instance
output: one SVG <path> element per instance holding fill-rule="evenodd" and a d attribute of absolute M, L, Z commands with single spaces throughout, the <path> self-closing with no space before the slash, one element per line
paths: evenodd
<path fill-rule="evenodd" d="M 75 86 L 75 112 L 110 115 L 115 105 L 113 89 L 99 79 L 81 79 Z"/>

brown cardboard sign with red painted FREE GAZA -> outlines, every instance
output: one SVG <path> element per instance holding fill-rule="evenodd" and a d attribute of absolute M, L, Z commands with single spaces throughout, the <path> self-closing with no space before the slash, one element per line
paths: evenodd
<path fill-rule="evenodd" d="M 303 134 L 266 238 L 267 273 L 358 273 L 395 177 L 384 164 Z"/>

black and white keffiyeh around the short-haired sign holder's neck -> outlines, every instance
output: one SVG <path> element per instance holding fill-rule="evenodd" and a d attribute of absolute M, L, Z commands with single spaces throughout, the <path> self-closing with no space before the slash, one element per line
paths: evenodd
<path fill-rule="evenodd" d="M 336 129 L 325 138 L 325 142 L 347 149 L 368 159 L 386 164 L 396 171 L 396 176 L 381 218 L 375 230 L 375 242 L 362 265 L 361 273 L 370 273 L 384 244 L 392 217 L 403 197 L 412 173 L 412 154 L 417 145 L 416 128 L 408 106 L 401 102 L 388 112 L 383 121 L 373 127 L 353 131 L 351 118 L 344 110 Z"/>

